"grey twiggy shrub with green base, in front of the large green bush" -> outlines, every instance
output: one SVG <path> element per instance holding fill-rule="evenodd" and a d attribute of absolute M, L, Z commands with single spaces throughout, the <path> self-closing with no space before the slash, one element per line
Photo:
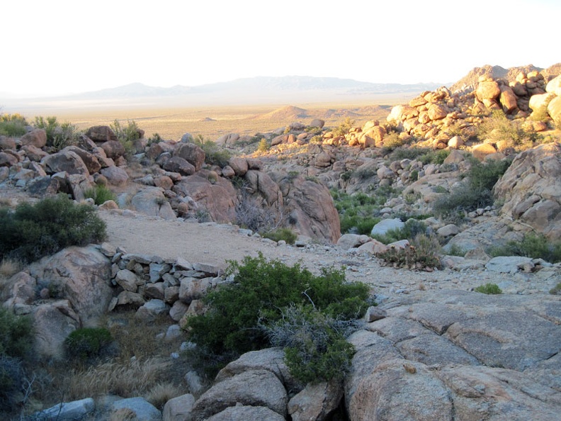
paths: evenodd
<path fill-rule="evenodd" d="M 302 383 L 341 380 L 355 353 L 346 337 L 356 322 L 336 320 L 310 306 L 290 306 L 283 318 L 265 327 L 275 347 L 283 347 L 290 374 Z"/>

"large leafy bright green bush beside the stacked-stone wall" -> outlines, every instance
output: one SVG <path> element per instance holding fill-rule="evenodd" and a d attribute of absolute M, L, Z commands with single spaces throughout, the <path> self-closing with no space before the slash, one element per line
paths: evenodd
<path fill-rule="evenodd" d="M 266 261 L 259 254 L 241 264 L 230 262 L 228 273 L 234 281 L 208 293 L 207 313 L 188 318 L 185 327 L 205 352 L 229 359 L 270 346 L 263 325 L 282 319 L 292 305 L 346 320 L 360 317 L 368 307 L 368 286 L 347 284 L 342 270 L 324 269 L 315 276 L 300 264 Z"/>

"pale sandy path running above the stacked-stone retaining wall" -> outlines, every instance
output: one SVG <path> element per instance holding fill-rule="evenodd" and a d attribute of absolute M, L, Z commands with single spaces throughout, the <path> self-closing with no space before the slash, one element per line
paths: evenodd
<path fill-rule="evenodd" d="M 186 223 L 132 213 L 100 211 L 107 223 L 108 242 L 129 253 L 157 254 L 192 263 L 208 263 L 225 268 L 228 260 L 256 257 L 278 259 L 293 265 L 300 262 L 314 273 L 324 267 L 345 266 L 348 281 L 363 281 L 377 293 L 402 296 L 403 293 L 426 294 L 443 288 L 469 290 L 487 282 L 501 284 L 510 293 L 547 293 L 554 279 L 544 280 L 533 274 L 498 274 L 481 269 L 424 272 L 380 266 L 375 257 L 345 252 L 333 245 L 313 244 L 310 247 L 278 246 L 269 240 L 248 237 L 234 225 Z M 506 291 L 505 291 L 506 292 Z"/>

